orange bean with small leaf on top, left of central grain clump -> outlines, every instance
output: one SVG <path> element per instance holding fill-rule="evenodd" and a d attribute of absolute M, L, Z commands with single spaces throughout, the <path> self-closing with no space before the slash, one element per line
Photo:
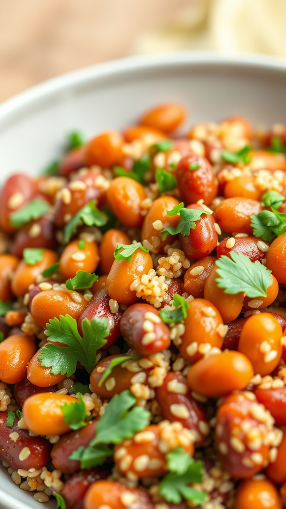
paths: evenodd
<path fill-rule="evenodd" d="M 134 304 L 139 297 L 134 290 L 130 290 L 130 286 L 136 278 L 148 274 L 151 269 L 153 260 L 150 254 L 142 249 L 136 249 L 130 262 L 115 260 L 106 279 L 107 294 L 120 304 Z"/>

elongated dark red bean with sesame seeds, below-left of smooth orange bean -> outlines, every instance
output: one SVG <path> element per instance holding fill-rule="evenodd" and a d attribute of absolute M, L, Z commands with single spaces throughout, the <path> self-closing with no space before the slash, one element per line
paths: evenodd
<path fill-rule="evenodd" d="M 194 432 L 195 444 L 202 444 L 210 432 L 207 416 L 203 405 L 191 397 L 187 379 L 181 373 L 167 373 L 155 393 L 163 417 L 181 422 L 184 428 Z"/>

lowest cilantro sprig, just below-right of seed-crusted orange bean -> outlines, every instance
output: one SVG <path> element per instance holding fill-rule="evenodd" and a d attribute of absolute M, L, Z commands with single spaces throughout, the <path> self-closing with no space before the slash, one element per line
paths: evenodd
<path fill-rule="evenodd" d="M 163 477 L 159 493 L 167 500 L 179 504 L 182 499 L 191 500 L 193 504 L 201 505 L 207 494 L 195 490 L 190 483 L 202 483 L 203 462 L 195 461 L 182 447 L 176 447 L 166 455 L 170 473 Z"/>

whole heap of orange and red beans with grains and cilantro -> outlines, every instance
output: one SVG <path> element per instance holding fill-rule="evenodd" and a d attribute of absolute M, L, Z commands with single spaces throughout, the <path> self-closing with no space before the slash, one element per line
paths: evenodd
<path fill-rule="evenodd" d="M 39 502 L 286 503 L 286 126 L 185 117 L 4 184 L 0 458 Z"/>

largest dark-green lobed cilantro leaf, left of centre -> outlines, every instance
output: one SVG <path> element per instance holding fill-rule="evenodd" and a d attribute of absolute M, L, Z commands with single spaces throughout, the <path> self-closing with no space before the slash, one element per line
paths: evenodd
<path fill-rule="evenodd" d="M 82 321 L 83 337 L 77 330 L 76 320 L 69 315 L 53 318 L 47 325 L 49 342 L 39 353 L 41 365 L 51 367 L 54 375 L 67 374 L 70 377 L 76 370 L 77 361 L 91 373 L 96 365 L 96 351 L 105 345 L 109 334 L 105 318 L 94 317 L 91 323 L 87 318 Z M 51 343 L 59 342 L 64 346 Z"/>

